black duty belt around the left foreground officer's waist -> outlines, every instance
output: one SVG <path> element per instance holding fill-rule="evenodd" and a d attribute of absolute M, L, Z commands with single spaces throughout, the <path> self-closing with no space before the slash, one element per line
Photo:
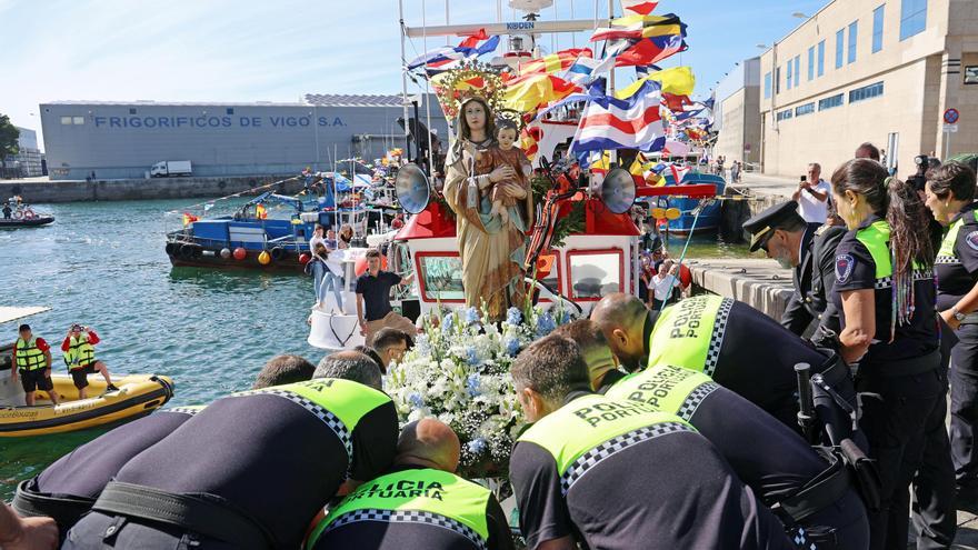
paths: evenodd
<path fill-rule="evenodd" d="M 211 494 L 177 494 L 110 481 L 92 510 L 176 526 L 244 550 L 279 548 L 272 534 L 256 520 L 216 499 L 219 498 Z"/>

